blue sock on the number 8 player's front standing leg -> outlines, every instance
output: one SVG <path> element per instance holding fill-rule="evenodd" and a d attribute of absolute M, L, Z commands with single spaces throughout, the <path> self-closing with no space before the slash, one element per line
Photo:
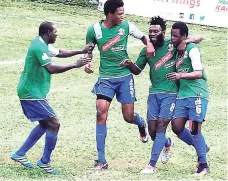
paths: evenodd
<path fill-rule="evenodd" d="M 166 139 L 167 138 L 165 136 L 165 133 L 156 133 L 156 138 L 154 140 L 154 144 L 151 152 L 151 158 L 150 158 L 150 165 L 152 165 L 153 167 L 155 167 L 158 161 L 159 155 L 163 147 L 165 146 Z"/>

